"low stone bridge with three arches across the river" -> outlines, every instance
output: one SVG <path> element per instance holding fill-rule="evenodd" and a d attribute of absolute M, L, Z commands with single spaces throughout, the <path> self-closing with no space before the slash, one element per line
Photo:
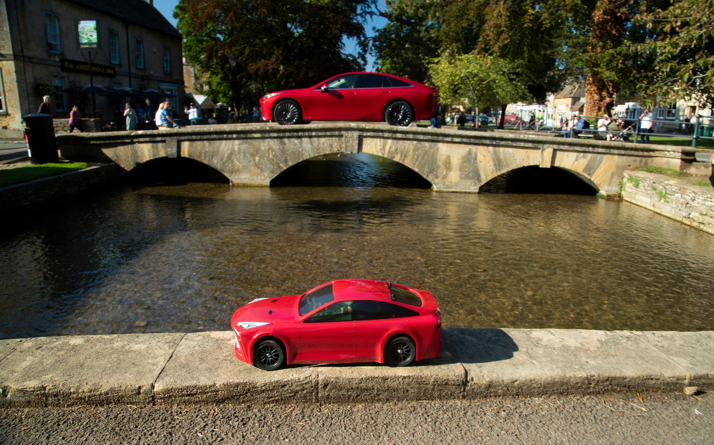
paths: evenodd
<path fill-rule="evenodd" d="M 685 170 L 693 149 L 563 139 L 526 132 L 427 129 L 337 123 L 188 126 L 171 131 L 115 131 L 57 136 L 66 159 L 111 161 L 126 171 L 163 157 L 201 161 L 232 184 L 267 186 L 305 159 L 369 153 L 421 174 L 437 191 L 477 192 L 490 179 L 526 166 L 559 167 L 603 196 L 619 196 L 623 171 L 644 166 Z"/>

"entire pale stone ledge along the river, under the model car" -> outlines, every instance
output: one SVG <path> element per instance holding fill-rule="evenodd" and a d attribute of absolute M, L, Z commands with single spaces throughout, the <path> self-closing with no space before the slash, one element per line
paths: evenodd
<path fill-rule="evenodd" d="M 0 406 L 335 403 L 681 391 L 714 386 L 714 331 L 444 329 L 415 366 L 292 366 L 233 356 L 231 331 L 0 341 Z"/>

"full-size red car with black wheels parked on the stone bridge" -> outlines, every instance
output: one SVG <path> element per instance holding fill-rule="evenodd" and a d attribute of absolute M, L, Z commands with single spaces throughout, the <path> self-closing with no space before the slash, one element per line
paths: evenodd
<path fill-rule="evenodd" d="M 281 125 L 386 121 L 407 126 L 431 119 L 438 97 L 436 88 L 392 74 L 345 73 L 310 88 L 266 94 L 260 102 L 263 117 Z"/>

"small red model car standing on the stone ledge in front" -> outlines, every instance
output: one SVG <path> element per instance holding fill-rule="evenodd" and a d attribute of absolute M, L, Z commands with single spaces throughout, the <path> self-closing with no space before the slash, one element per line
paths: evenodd
<path fill-rule="evenodd" d="M 441 311 L 431 293 L 365 279 L 253 300 L 233 314 L 231 329 L 236 358 L 266 371 L 363 361 L 406 366 L 441 349 Z"/>

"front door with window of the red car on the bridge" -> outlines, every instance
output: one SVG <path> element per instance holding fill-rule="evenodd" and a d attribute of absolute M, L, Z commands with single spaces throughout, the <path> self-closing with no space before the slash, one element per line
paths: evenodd
<path fill-rule="evenodd" d="M 311 116 L 305 119 L 355 119 L 357 74 L 337 76 L 320 84 L 311 94 Z M 326 89 L 321 86 L 327 85 Z"/>

